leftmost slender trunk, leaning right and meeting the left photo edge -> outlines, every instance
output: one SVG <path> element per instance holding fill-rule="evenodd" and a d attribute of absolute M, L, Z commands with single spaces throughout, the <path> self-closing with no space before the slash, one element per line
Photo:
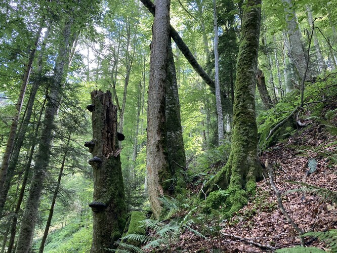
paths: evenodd
<path fill-rule="evenodd" d="M 30 51 L 27 67 L 26 67 L 26 70 L 25 70 L 25 74 L 23 76 L 18 102 L 16 103 L 16 106 L 15 106 L 15 115 L 13 116 L 13 119 L 12 119 L 11 130 L 10 130 L 10 134 L 9 134 L 7 145 L 6 145 L 3 163 L 1 165 L 0 196 L 3 195 L 2 194 L 3 187 L 4 187 L 5 180 L 6 180 L 6 175 L 7 175 L 7 172 L 8 172 L 8 166 L 9 166 L 9 163 L 10 163 L 10 158 L 11 158 L 12 151 L 13 151 L 13 148 L 14 148 L 14 140 L 15 140 L 15 135 L 16 135 L 17 128 L 18 128 L 18 122 L 19 122 L 19 117 L 20 117 L 21 108 L 22 108 L 22 104 L 23 104 L 23 99 L 24 99 L 24 96 L 25 96 L 25 93 L 26 93 L 26 88 L 27 88 L 27 84 L 28 84 L 28 81 L 29 81 L 30 71 L 31 71 L 31 68 L 32 68 L 33 60 L 35 58 L 36 47 L 37 47 L 38 39 L 39 39 L 40 34 L 41 34 L 41 30 L 43 28 L 43 24 L 44 24 L 44 21 L 41 21 L 41 23 L 39 25 L 39 28 L 36 32 L 34 45 L 33 45 L 32 49 Z M 1 213 L 0 213 L 0 215 L 1 215 Z"/>

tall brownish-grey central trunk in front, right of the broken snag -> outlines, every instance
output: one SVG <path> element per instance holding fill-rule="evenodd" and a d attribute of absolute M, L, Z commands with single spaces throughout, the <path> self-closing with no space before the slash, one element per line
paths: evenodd
<path fill-rule="evenodd" d="M 171 186 L 166 181 L 171 178 L 171 173 L 167 162 L 165 125 L 169 33 L 170 0 L 158 1 L 152 27 L 146 146 L 148 193 L 155 219 L 159 218 L 162 209 L 158 197 L 167 193 Z"/>

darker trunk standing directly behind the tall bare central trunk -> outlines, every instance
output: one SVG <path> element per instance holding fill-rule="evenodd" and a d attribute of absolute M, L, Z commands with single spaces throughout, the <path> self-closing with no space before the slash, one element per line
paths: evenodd
<path fill-rule="evenodd" d="M 186 156 L 183 140 L 183 132 L 180 117 L 180 102 L 178 94 L 178 83 L 176 67 L 173 58 L 171 39 L 168 43 L 167 56 L 167 83 L 166 83 L 166 138 L 167 138 L 167 160 L 172 175 L 177 179 L 175 194 L 183 194 L 186 189 L 184 179 L 184 168 L 186 167 Z"/>

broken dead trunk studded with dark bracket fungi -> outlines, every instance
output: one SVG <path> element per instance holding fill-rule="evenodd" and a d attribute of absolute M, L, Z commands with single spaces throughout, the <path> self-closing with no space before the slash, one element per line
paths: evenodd
<path fill-rule="evenodd" d="M 91 93 L 93 139 L 85 146 L 93 154 L 89 164 L 94 173 L 93 244 L 91 252 L 111 252 L 121 237 L 126 220 L 124 184 L 120 166 L 117 138 L 117 107 L 112 104 L 111 93 Z"/>

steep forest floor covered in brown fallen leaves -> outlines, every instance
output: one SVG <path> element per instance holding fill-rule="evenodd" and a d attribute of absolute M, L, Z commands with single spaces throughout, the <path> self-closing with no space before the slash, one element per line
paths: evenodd
<path fill-rule="evenodd" d="M 326 105 L 322 113 L 335 108 L 335 103 Z M 331 122 L 334 128 L 336 115 Z M 328 192 L 302 184 L 337 191 L 337 138 L 322 121 L 310 119 L 306 124 L 286 141 L 267 149 L 260 158 L 263 163 L 268 159 L 273 166 L 274 182 L 282 194 L 283 206 L 302 231 L 337 229 L 337 206 L 331 202 Z M 316 170 L 307 175 L 309 166 Z M 230 220 L 218 221 L 220 226 L 213 240 L 209 237 L 204 240 L 186 230 L 178 243 L 172 245 L 173 252 L 212 252 L 212 248 L 216 249 L 213 252 L 270 252 L 300 245 L 298 232 L 278 207 L 269 178 L 257 185 L 256 196 L 240 212 Z M 309 246 L 326 247 L 309 237 L 305 241 Z"/>

